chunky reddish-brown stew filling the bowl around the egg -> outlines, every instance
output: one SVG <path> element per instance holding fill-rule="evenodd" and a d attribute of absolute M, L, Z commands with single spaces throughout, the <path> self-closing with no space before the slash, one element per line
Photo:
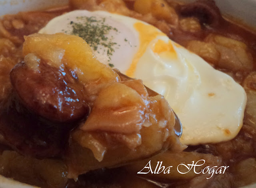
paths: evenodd
<path fill-rule="evenodd" d="M 174 50 L 183 46 L 231 76 L 247 96 L 239 133 L 185 146 L 175 134 L 172 108 L 176 110 L 167 97 L 150 92 L 143 79 L 142 83 L 112 70 L 119 68 L 111 63 L 115 45 L 122 44 L 98 31 L 118 33 L 119 28 L 84 16 L 86 27 L 68 20 L 73 30 L 67 34 L 73 35 L 44 33 L 50 20 L 78 9 L 142 20 L 150 25 L 134 24 L 137 31 L 145 31 L 138 34 L 140 41 L 150 45 L 148 38 L 159 35 L 177 43 L 161 38 L 155 53 L 167 49 L 168 57 L 178 59 Z M 88 28 L 93 35 L 86 38 L 87 44 L 82 38 Z M 123 42 L 138 48 L 138 54 L 146 53 L 136 42 Z M 93 54 L 100 54 L 98 45 L 108 47 L 107 65 Z M 212 0 L 70 0 L 58 9 L 5 15 L 0 20 L 0 174 L 42 188 L 236 188 L 255 183 L 255 60 L 253 29 L 223 18 Z M 134 77 L 140 62 L 134 58 L 129 63 L 123 73 Z M 230 136 L 230 130 L 222 131 Z M 196 162 L 200 165 L 194 168 Z"/>

